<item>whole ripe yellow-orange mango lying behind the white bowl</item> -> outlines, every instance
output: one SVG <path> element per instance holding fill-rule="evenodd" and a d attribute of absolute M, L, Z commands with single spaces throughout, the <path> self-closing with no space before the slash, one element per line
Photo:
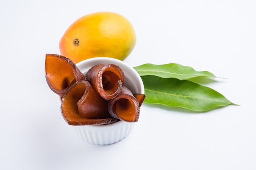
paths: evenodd
<path fill-rule="evenodd" d="M 97 12 L 85 15 L 65 31 L 59 42 L 61 55 L 79 63 L 93 57 L 124 60 L 136 44 L 132 24 L 122 15 Z"/>

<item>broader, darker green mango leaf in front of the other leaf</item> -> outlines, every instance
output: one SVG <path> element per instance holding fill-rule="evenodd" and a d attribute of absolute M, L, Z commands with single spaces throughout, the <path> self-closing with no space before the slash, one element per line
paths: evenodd
<path fill-rule="evenodd" d="M 187 80 L 141 76 L 145 87 L 145 103 L 183 107 L 193 111 L 209 111 L 232 104 L 215 90 Z"/>

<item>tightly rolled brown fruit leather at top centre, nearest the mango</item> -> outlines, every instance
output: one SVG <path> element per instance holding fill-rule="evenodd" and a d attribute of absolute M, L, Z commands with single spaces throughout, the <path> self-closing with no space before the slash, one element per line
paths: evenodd
<path fill-rule="evenodd" d="M 124 85 L 124 72 L 115 64 L 94 65 L 86 74 L 86 79 L 106 100 L 115 98 Z"/>

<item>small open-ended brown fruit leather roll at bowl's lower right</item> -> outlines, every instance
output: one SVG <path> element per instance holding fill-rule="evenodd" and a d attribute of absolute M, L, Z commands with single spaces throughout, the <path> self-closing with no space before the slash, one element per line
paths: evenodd
<path fill-rule="evenodd" d="M 139 102 L 126 86 L 123 86 L 122 91 L 115 98 L 108 100 L 108 111 L 110 115 L 113 118 L 126 122 L 138 121 L 139 107 Z"/>

